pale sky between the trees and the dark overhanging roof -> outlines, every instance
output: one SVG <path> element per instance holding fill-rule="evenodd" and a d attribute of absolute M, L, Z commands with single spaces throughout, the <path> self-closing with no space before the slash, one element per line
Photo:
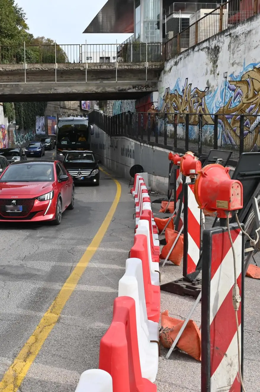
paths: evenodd
<path fill-rule="evenodd" d="M 82 34 L 107 0 L 16 0 L 30 33 L 57 44 L 121 44 L 132 34 Z"/>

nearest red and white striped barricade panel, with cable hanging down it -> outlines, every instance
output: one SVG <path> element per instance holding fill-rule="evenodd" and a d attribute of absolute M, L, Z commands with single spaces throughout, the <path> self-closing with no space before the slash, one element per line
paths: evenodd
<path fill-rule="evenodd" d="M 243 369 L 244 235 L 237 223 L 230 225 L 230 232 L 235 249 L 236 278 L 241 296 L 237 316 L 240 361 Z M 232 296 L 235 283 L 234 262 L 227 228 L 204 230 L 202 243 L 201 391 L 241 392 L 237 325 Z"/>

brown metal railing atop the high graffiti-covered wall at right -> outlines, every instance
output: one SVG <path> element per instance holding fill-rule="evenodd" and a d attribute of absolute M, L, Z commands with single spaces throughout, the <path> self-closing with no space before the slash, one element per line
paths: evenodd
<path fill-rule="evenodd" d="M 166 42 L 166 60 L 260 13 L 259 0 L 230 0 Z"/>

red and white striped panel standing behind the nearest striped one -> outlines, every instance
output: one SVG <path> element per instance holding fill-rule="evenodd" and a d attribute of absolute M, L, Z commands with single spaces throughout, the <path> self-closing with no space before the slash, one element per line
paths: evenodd
<path fill-rule="evenodd" d="M 195 272 L 200 258 L 201 211 L 194 194 L 194 181 L 184 184 L 184 278 Z"/>

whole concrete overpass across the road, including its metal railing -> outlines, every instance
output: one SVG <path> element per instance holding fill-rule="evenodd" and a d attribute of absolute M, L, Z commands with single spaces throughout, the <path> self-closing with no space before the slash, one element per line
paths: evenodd
<path fill-rule="evenodd" d="M 0 102 L 138 99 L 156 91 L 164 44 L 0 47 Z"/>

